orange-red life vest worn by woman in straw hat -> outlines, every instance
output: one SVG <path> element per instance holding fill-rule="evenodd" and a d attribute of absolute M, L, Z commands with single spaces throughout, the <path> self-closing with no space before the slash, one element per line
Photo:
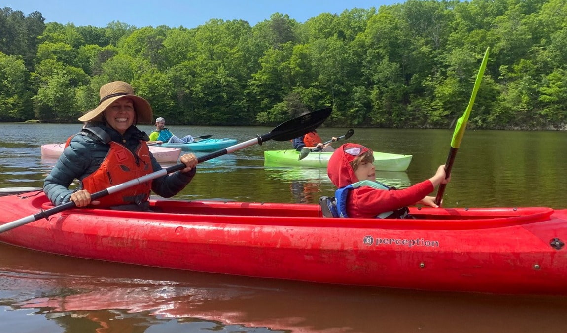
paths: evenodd
<path fill-rule="evenodd" d="M 140 140 L 136 150 L 136 156 L 125 146 L 111 141 L 110 149 L 100 164 L 98 170 L 83 179 L 83 189 L 90 193 L 102 191 L 111 186 L 115 186 L 128 180 L 145 176 L 152 172 L 150 148 L 146 142 Z M 136 162 L 138 161 L 138 162 Z M 97 199 L 100 204 L 97 208 L 108 208 L 110 206 L 139 204 L 147 201 L 150 197 L 151 180 L 140 183 L 137 186 L 123 189 Z"/>

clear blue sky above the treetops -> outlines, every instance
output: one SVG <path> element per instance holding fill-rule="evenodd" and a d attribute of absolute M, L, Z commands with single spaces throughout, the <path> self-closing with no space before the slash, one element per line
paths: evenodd
<path fill-rule="evenodd" d="M 209 19 L 243 19 L 255 26 L 274 12 L 305 22 L 323 12 L 340 14 L 345 9 L 378 9 L 382 5 L 403 2 L 405 0 L 2 0 L 0 7 L 10 7 L 24 15 L 39 11 L 46 23 L 105 27 L 112 21 L 120 21 L 136 27 L 164 24 L 193 28 Z"/>

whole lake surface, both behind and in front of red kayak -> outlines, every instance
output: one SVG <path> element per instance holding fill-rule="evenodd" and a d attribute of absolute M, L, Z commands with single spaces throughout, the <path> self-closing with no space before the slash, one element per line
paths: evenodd
<path fill-rule="evenodd" d="M 2 187 L 41 187 L 80 124 L 0 124 Z M 141 126 L 148 133 L 150 126 Z M 170 127 L 178 136 L 249 140 L 268 127 Z M 345 128 L 321 128 L 323 140 Z M 445 163 L 452 130 L 354 129 L 348 140 L 411 154 L 405 172 L 377 172 L 408 187 Z M 268 141 L 198 166 L 176 200 L 317 203 L 335 188 L 326 170 L 265 167 Z M 337 146 L 337 144 L 335 144 Z M 467 130 L 443 205 L 567 208 L 567 133 Z M 166 165 L 167 166 L 167 165 Z M 0 245 L 0 321 L 17 332 L 534 332 L 565 325 L 567 298 L 434 293 L 179 272 L 43 254 Z"/>

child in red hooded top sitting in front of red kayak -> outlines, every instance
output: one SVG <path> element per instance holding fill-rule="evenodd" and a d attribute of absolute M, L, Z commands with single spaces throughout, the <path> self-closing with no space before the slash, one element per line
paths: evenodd
<path fill-rule="evenodd" d="M 327 165 L 341 217 L 406 218 L 408 205 L 423 204 L 437 208 L 435 197 L 428 196 L 439 184 L 446 184 L 445 165 L 421 183 L 396 190 L 376 182 L 373 151 L 359 144 L 338 147 Z"/>

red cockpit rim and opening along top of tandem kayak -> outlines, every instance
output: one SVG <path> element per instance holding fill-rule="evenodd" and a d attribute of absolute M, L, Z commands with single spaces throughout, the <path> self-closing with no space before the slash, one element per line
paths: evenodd
<path fill-rule="evenodd" d="M 39 199 L 38 199 L 39 200 Z M 37 208 L 49 209 L 45 201 Z M 237 201 L 150 200 L 151 212 L 133 212 L 96 208 L 70 209 L 62 214 L 85 214 L 124 218 L 143 217 L 164 223 L 219 223 L 227 225 L 320 226 L 376 229 L 469 230 L 531 224 L 550 220 L 548 207 L 527 208 L 416 208 L 414 220 L 379 218 L 323 217 L 319 205 L 285 203 L 243 203 Z"/>

